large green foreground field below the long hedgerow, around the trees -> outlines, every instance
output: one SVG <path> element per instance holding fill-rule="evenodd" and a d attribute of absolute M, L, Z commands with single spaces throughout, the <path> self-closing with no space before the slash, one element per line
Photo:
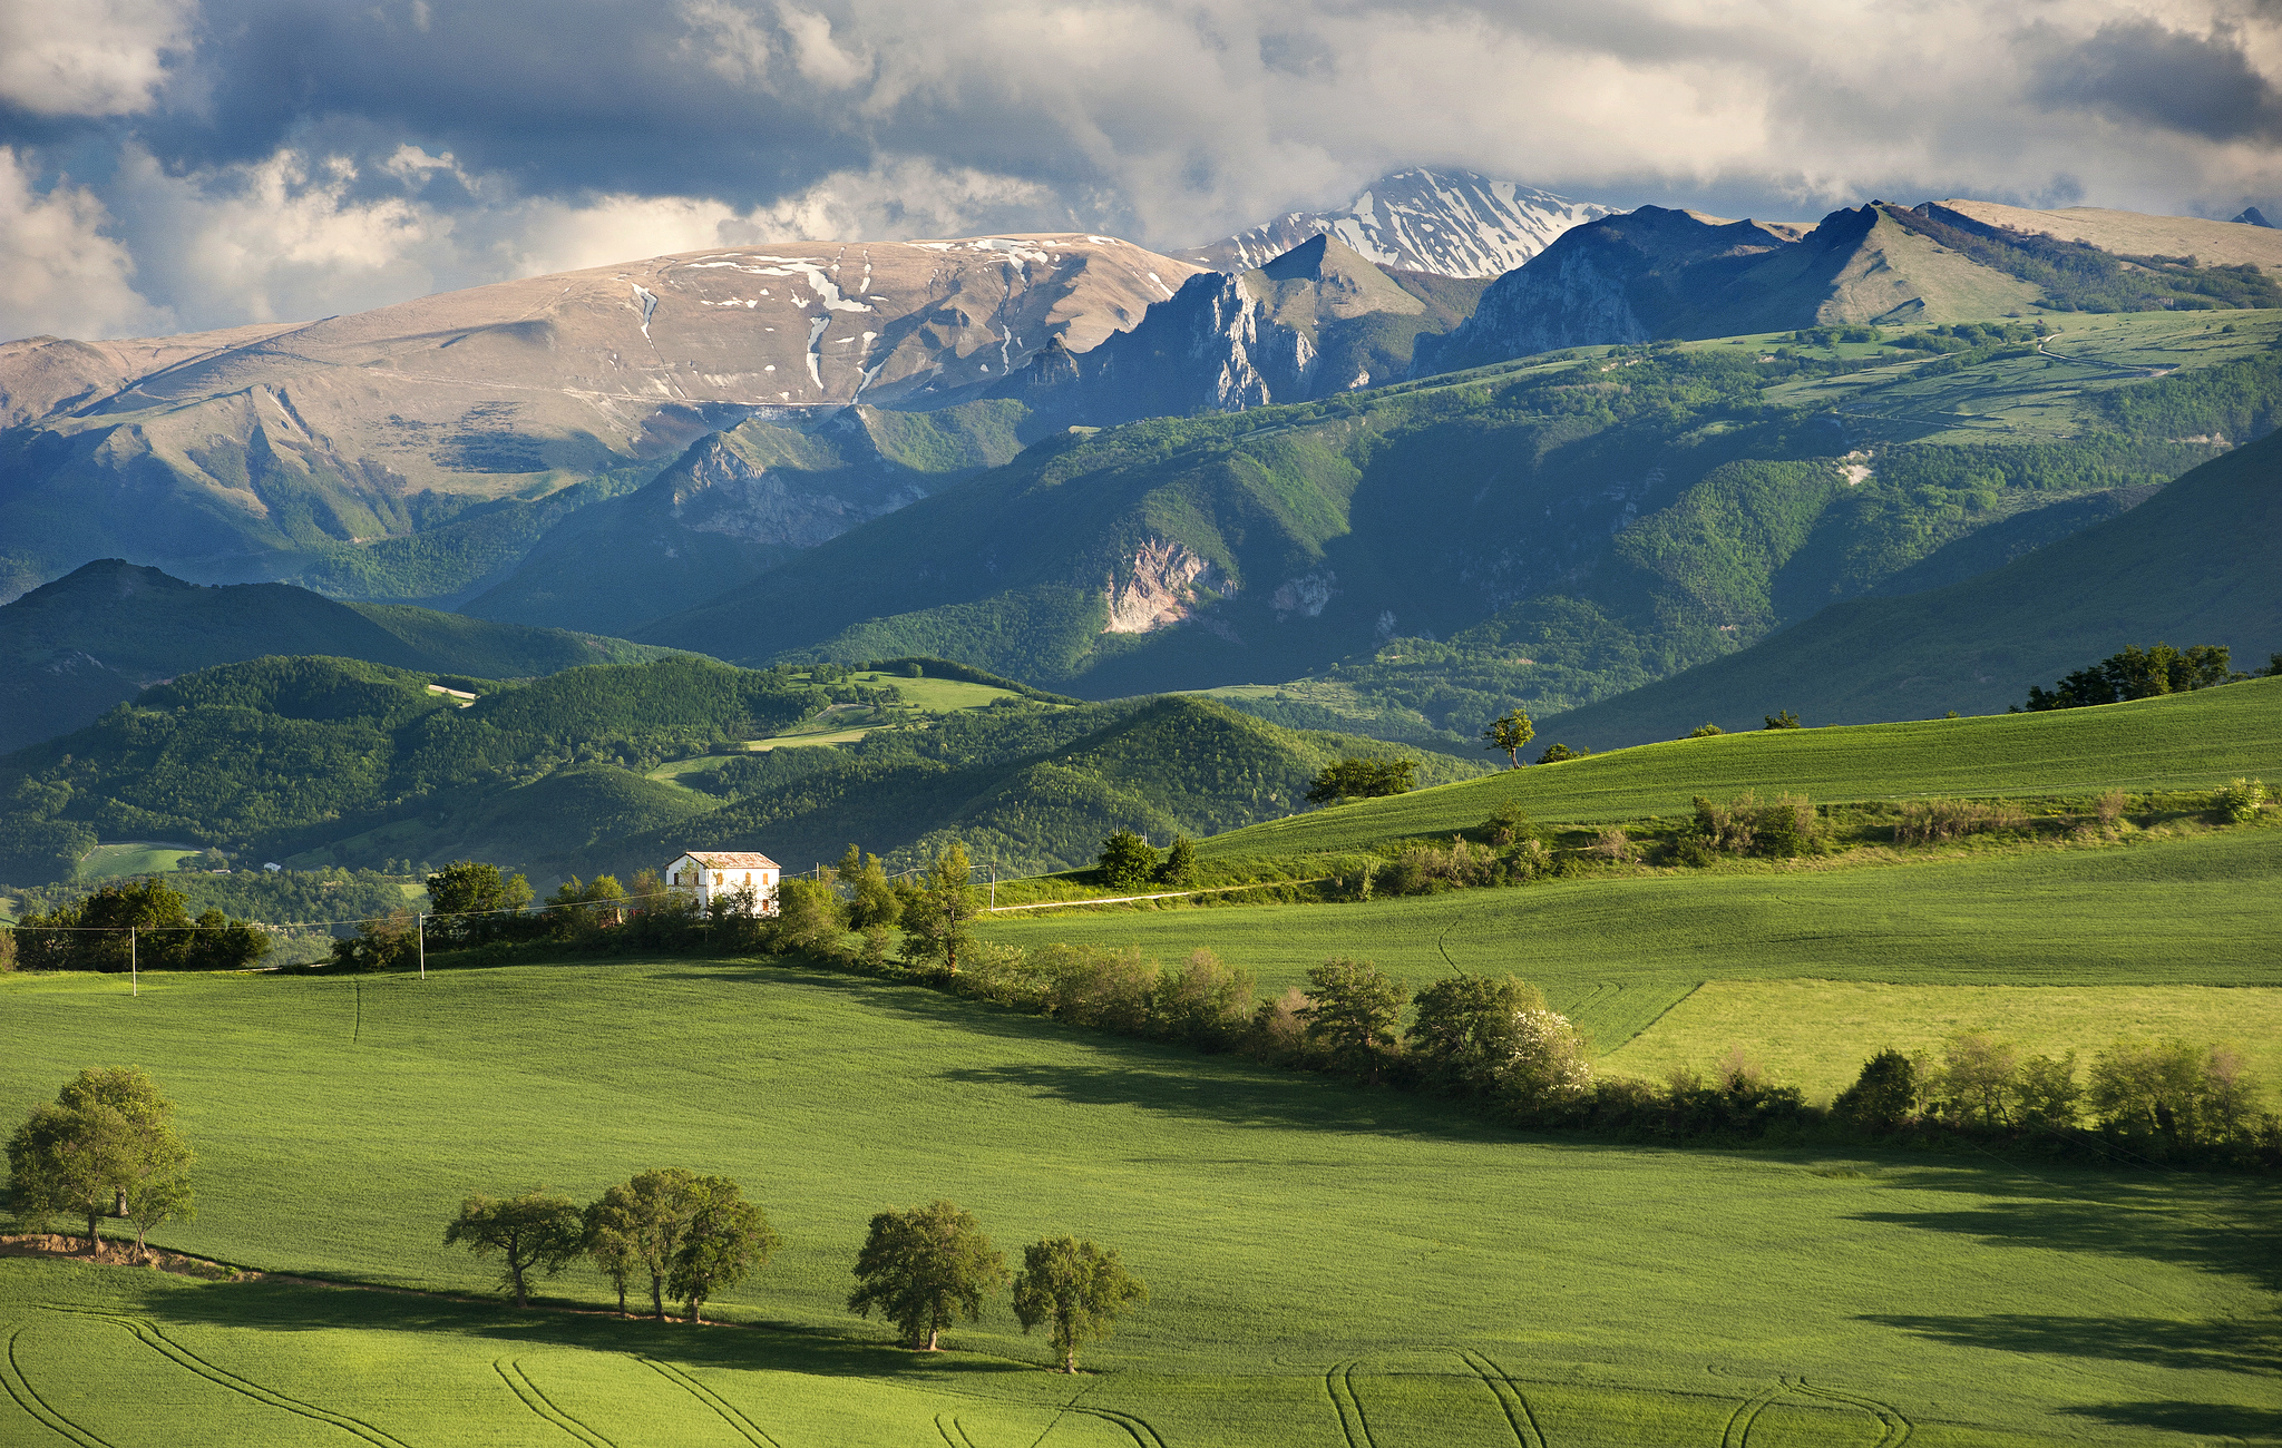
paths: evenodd
<path fill-rule="evenodd" d="M 11 1111 L 112 1060 L 180 1099 L 201 1152 L 201 1215 L 160 1234 L 180 1250 L 477 1291 L 440 1245 L 461 1195 L 591 1195 L 653 1163 L 739 1177 L 787 1238 L 719 1302 L 755 1332 L 0 1261 L 9 1443 L 1869 1448 L 2282 1427 L 2264 1181 L 1554 1145 L 739 965 L 160 976 L 141 999 L 0 978 L 0 1026 Z M 847 1266 L 872 1211 L 933 1195 L 1002 1247 L 1118 1245 L 1152 1302 L 1077 1382 L 1036 1368 L 1004 1307 L 942 1359 L 885 1348 L 840 1309 Z M 591 1307 L 602 1284 L 550 1295 Z"/>

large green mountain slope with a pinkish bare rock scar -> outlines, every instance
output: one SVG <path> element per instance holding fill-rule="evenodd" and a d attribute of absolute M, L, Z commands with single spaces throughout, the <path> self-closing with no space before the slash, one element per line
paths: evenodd
<path fill-rule="evenodd" d="M 938 654 L 1093 698 L 1337 664 L 1358 727 L 1394 707 L 1465 739 L 1515 700 L 1549 714 L 1734 652 L 1990 524 L 2081 524 L 2261 433 L 2282 312 L 2216 317 L 1554 353 L 1079 431 L 637 636 Z M 2115 497 L 2047 511 L 2090 495 Z"/>

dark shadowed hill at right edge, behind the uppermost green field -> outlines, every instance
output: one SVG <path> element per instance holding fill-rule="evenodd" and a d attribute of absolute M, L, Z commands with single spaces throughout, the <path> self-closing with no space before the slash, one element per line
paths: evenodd
<path fill-rule="evenodd" d="M 1807 723 L 1990 714 L 2127 643 L 2223 643 L 2236 666 L 2282 652 L 2282 436 L 2177 479 L 2120 518 L 1963 584 L 1842 602 L 1762 643 L 1545 721 L 1572 746 Z M 1940 559 L 1940 554 L 1935 554 Z"/>

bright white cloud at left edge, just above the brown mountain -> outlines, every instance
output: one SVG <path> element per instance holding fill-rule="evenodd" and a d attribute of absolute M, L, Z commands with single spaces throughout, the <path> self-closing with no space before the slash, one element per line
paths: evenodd
<path fill-rule="evenodd" d="M 0 337 L 153 335 L 173 317 L 135 290 L 135 260 L 103 235 L 110 214 L 84 187 L 34 189 L 32 169 L 0 146 Z"/>

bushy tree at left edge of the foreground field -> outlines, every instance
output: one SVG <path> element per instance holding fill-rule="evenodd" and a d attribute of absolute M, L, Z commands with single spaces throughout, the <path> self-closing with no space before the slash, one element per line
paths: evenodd
<path fill-rule="evenodd" d="M 18 1218 L 46 1222 L 71 1213 L 87 1222 L 87 1252 L 98 1252 L 96 1222 L 135 1222 L 135 1250 L 151 1227 L 192 1215 L 192 1152 L 173 1129 L 173 1101 L 141 1067 L 87 1069 L 34 1106 L 7 1145 L 9 1197 Z"/>

